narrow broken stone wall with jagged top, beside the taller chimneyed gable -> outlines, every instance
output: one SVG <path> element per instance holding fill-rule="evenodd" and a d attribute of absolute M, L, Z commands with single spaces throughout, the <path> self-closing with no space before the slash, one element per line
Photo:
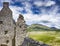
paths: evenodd
<path fill-rule="evenodd" d="M 19 18 L 16 23 L 16 46 L 20 46 L 24 38 L 26 37 L 26 24 L 24 21 L 24 17 L 19 15 Z"/>

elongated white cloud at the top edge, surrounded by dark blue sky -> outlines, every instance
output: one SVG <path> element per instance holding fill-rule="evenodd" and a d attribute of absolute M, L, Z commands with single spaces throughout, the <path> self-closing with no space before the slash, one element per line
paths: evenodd
<path fill-rule="evenodd" d="M 46 1 L 35 1 L 34 4 L 36 6 L 51 6 L 56 4 L 54 1 L 46 0 Z"/>

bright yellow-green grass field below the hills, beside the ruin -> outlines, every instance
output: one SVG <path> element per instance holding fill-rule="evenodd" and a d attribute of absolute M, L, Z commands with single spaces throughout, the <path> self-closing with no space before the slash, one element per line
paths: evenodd
<path fill-rule="evenodd" d="M 31 31 L 29 37 L 49 44 L 51 46 L 60 46 L 60 32 L 56 31 Z"/>

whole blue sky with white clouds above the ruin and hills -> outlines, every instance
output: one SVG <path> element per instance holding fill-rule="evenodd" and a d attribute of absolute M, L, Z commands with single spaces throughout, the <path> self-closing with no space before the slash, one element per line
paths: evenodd
<path fill-rule="evenodd" d="M 22 14 L 28 25 L 60 28 L 60 0 L 0 0 L 0 10 L 3 2 L 10 3 L 15 21 Z"/>

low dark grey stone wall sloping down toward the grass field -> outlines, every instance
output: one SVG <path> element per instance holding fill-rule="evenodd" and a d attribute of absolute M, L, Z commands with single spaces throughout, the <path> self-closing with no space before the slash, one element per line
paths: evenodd
<path fill-rule="evenodd" d="M 21 46 L 50 46 L 50 45 L 47 45 L 45 43 L 38 42 L 38 41 L 33 40 L 29 37 L 26 37 Z"/>

